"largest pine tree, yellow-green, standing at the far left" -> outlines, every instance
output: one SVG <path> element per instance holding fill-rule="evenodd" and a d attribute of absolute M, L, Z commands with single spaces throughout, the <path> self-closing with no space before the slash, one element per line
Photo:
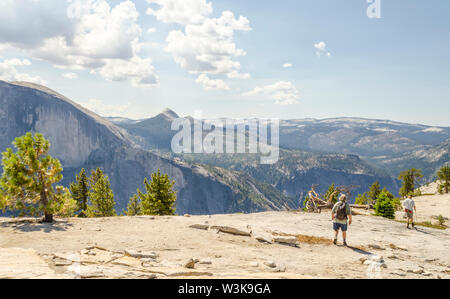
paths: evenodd
<path fill-rule="evenodd" d="M 75 202 L 66 188 L 53 187 L 62 179 L 59 160 L 48 155 L 50 143 L 42 134 L 27 133 L 13 142 L 14 153 L 8 148 L 3 153 L 3 175 L 0 188 L 1 205 L 20 211 L 19 216 L 40 216 L 44 222 L 53 222 L 53 216 L 62 212 L 71 216 Z"/>

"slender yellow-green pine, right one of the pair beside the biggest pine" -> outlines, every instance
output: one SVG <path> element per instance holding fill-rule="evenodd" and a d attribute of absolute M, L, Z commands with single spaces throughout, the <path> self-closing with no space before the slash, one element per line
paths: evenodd
<path fill-rule="evenodd" d="M 109 179 L 100 168 L 92 171 L 89 184 L 89 205 L 86 210 L 86 216 L 90 218 L 117 216 L 114 208 L 116 203 Z"/>

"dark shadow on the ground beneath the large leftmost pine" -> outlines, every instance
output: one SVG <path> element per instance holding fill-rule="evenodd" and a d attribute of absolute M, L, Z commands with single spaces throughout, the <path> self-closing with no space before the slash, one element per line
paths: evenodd
<path fill-rule="evenodd" d="M 66 220 L 55 220 L 52 223 L 44 223 L 40 220 L 12 220 L 5 221 L 0 224 L 2 228 L 12 228 L 14 230 L 20 232 L 44 232 L 51 233 L 53 231 L 67 231 L 69 227 L 72 227 L 73 224 L 69 223 Z"/>

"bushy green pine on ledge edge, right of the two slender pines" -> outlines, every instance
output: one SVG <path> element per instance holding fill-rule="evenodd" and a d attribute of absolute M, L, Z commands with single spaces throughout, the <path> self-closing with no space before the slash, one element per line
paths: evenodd
<path fill-rule="evenodd" d="M 152 174 L 151 182 L 144 180 L 146 193 L 137 190 L 142 201 L 143 215 L 174 215 L 176 192 L 172 190 L 175 181 L 170 181 L 167 174 L 162 175 L 158 169 Z"/>

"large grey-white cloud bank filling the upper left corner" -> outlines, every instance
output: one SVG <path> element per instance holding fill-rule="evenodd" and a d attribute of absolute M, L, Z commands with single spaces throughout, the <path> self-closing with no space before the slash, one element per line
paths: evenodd
<path fill-rule="evenodd" d="M 68 10 L 78 4 L 73 11 Z M 130 0 L 113 7 L 106 0 L 2 1 L 0 44 L 26 50 L 32 57 L 62 69 L 88 69 L 101 75 L 105 75 L 107 69 L 126 74 L 123 72 L 125 64 L 133 65 L 135 61 L 143 60 L 146 66 L 149 65 L 149 60 L 138 55 L 142 33 L 137 24 L 138 16 L 136 6 Z M 4 22 L 3 17 L 15 27 Z M 120 70 L 112 70 L 113 66 Z M 154 86 L 136 82 L 157 78 L 151 65 L 146 71 L 140 69 L 131 75 L 133 85 L 139 86 Z"/>

